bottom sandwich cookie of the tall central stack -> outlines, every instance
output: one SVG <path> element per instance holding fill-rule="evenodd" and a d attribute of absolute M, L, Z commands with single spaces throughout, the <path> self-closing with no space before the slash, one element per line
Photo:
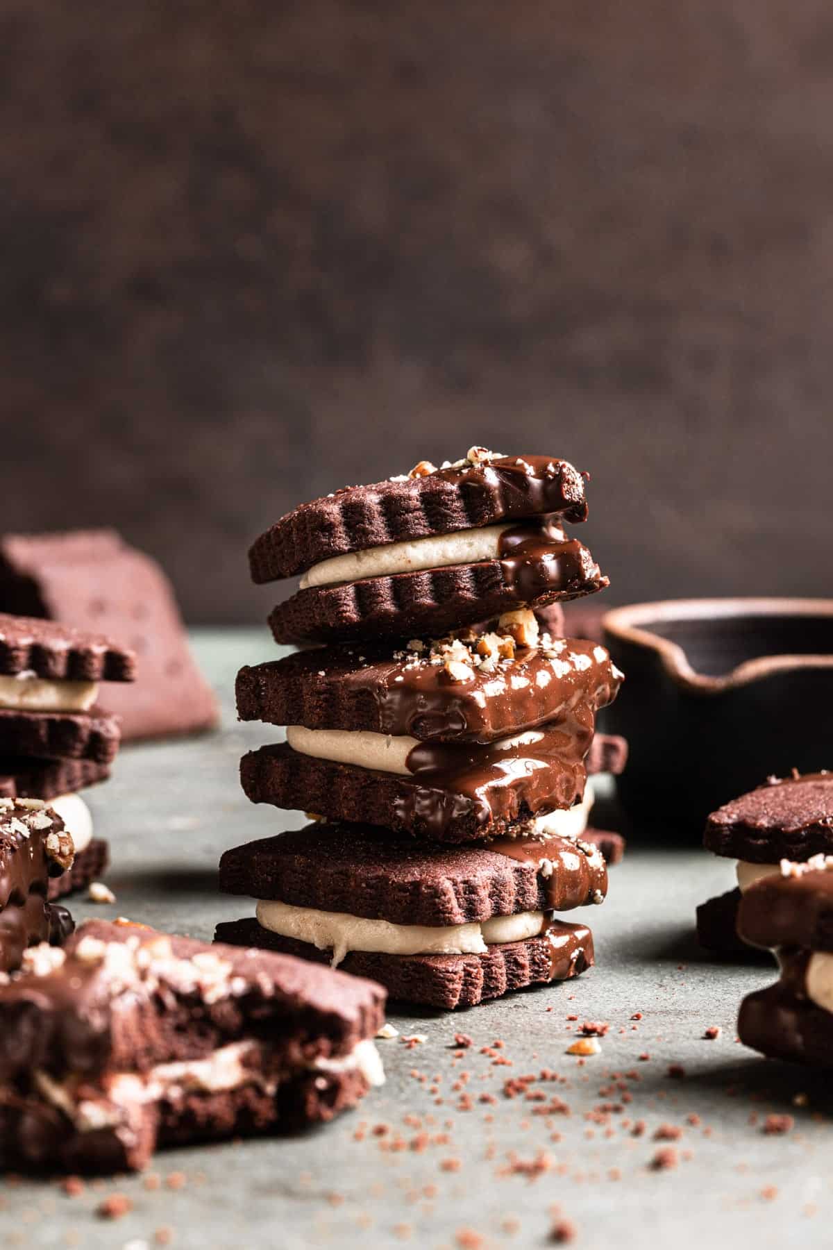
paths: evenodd
<path fill-rule="evenodd" d="M 607 870 L 583 840 L 526 836 L 423 848 L 361 825 L 311 825 L 225 852 L 220 889 L 259 900 L 217 940 L 332 961 L 392 996 L 471 1006 L 593 962 L 586 925 L 555 916 L 602 902 Z"/>

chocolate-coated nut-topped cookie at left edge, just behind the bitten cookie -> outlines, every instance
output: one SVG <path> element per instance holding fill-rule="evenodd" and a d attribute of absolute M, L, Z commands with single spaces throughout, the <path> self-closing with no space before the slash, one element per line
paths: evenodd
<path fill-rule="evenodd" d="M 69 914 L 52 908 L 46 891 L 50 878 L 71 866 L 72 840 L 55 811 L 36 800 L 0 799 L 0 971 L 20 968 L 34 942 L 67 935 Z"/>

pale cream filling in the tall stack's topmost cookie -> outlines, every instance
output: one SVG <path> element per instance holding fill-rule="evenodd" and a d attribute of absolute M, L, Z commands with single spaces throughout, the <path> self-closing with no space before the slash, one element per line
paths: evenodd
<path fill-rule="evenodd" d="M 476 564 L 497 560 L 501 534 L 510 525 L 485 525 L 478 530 L 457 534 L 432 534 L 411 542 L 388 542 L 385 546 L 348 551 L 313 564 L 301 578 L 301 590 L 307 586 L 328 586 L 336 581 L 358 581 L 361 578 L 386 578 L 418 569 L 440 569 L 450 564 Z"/>

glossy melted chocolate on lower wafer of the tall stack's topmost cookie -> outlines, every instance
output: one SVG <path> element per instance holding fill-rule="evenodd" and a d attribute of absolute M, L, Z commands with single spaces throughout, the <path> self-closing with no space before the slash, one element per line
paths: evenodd
<path fill-rule="evenodd" d="M 542 595 L 557 595 L 599 578 L 599 569 L 578 539 L 568 539 L 556 524 L 557 518 L 542 518 L 540 524 L 513 525 L 498 541 L 503 578 L 523 604 Z"/>

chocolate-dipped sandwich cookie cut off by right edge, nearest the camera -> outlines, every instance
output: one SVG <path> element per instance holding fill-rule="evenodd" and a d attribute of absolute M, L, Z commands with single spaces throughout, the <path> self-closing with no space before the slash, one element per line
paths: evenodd
<path fill-rule="evenodd" d="M 777 876 L 747 890 L 738 932 L 771 949 L 781 980 L 748 995 L 738 1035 L 778 1059 L 833 1068 L 833 856 L 783 860 Z"/>

